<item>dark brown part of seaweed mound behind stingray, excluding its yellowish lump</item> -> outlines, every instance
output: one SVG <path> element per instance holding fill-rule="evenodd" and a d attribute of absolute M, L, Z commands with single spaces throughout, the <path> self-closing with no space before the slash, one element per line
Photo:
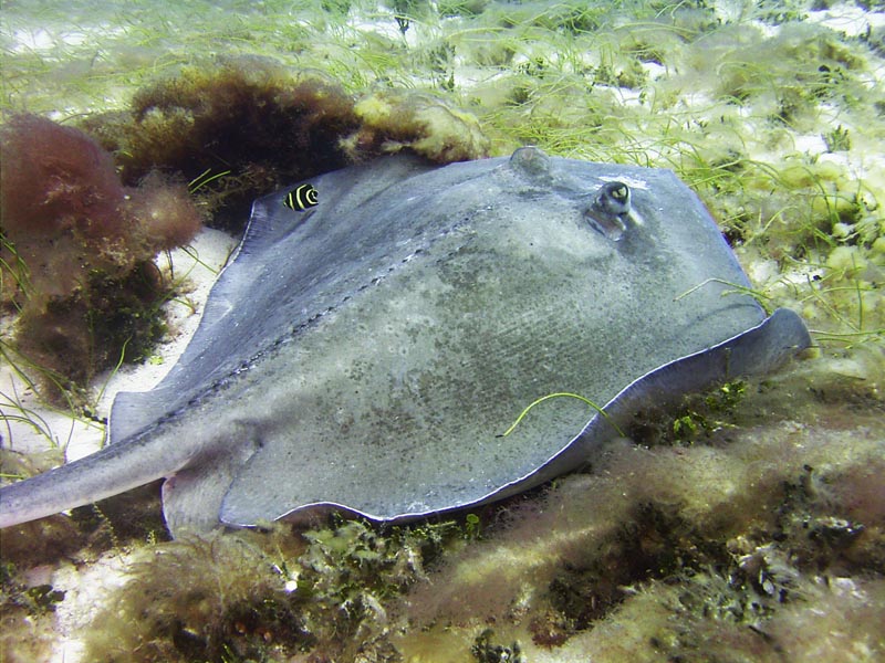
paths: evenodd
<path fill-rule="evenodd" d="M 246 218 L 252 199 L 283 181 L 343 167 L 337 139 L 356 124 L 336 82 L 250 60 L 187 69 L 139 90 L 128 113 L 85 127 L 129 183 L 153 169 L 189 181 L 226 173 L 204 192 L 214 209 Z"/>

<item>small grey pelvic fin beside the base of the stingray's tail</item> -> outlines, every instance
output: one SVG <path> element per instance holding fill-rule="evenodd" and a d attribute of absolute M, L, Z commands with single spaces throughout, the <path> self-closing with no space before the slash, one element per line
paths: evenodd
<path fill-rule="evenodd" d="M 258 428 L 238 422 L 223 444 L 215 444 L 163 484 L 163 515 L 173 536 L 204 534 L 218 527 L 231 483 L 262 446 Z M 252 523 L 250 523 L 252 524 Z"/>

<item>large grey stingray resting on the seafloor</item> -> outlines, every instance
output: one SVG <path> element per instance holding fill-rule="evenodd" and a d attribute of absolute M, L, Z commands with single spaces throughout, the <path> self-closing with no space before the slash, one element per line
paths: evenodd
<path fill-rule="evenodd" d="M 175 535 L 513 495 L 810 345 L 749 288 L 669 170 L 521 148 L 330 172 L 254 202 L 168 375 L 117 396 L 104 449 L 3 487 L 0 525 L 160 477 Z"/>

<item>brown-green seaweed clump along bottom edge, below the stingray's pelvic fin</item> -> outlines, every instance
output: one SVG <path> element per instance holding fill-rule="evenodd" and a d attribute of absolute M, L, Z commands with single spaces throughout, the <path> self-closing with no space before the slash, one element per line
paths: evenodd
<path fill-rule="evenodd" d="M 333 519 L 293 537 L 216 534 L 156 546 L 86 636 L 88 660 L 402 660 L 391 606 L 459 534 Z"/>

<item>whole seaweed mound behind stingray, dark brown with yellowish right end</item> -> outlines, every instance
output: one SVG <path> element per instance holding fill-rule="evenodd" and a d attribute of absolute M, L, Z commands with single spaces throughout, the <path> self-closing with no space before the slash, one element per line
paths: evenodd
<path fill-rule="evenodd" d="M 238 228 L 252 200 L 408 148 L 437 162 L 486 156 L 473 116 L 412 92 L 356 102 L 322 72 L 262 59 L 194 66 L 138 91 L 128 112 L 84 123 L 125 182 L 160 169 L 200 188 L 217 225 Z"/>

